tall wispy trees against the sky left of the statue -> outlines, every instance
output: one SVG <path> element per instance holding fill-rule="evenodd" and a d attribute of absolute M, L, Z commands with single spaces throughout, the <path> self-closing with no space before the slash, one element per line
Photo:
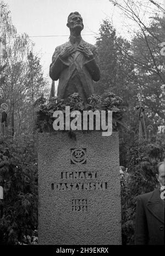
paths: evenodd
<path fill-rule="evenodd" d="M 32 133 L 34 102 L 46 92 L 40 58 L 33 53 L 34 43 L 25 33 L 18 34 L 10 11 L 0 2 L 0 105 L 8 105 L 8 127 L 19 135 Z"/>

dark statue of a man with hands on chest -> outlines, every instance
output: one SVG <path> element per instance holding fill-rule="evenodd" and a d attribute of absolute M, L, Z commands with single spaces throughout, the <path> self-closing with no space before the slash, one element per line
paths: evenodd
<path fill-rule="evenodd" d="M 53 81 L 59 79 L 57 96 L 67 98 L 77 92 L 87 103 L 94 93 L 93 81 L 100 80 L 96 46 L 81 38 L 84 25 L 78 12 L 69 14 L 67 27 L 70 29 L 69 41 L 54 51 L 50 77 Z"/>

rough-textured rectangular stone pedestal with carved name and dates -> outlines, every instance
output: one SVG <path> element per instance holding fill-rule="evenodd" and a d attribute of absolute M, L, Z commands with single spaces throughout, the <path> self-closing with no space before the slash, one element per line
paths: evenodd
<path fill-rule="evenodd" d="M 118 133 L 38 138 L 39 244 L 121 244 Z"/>

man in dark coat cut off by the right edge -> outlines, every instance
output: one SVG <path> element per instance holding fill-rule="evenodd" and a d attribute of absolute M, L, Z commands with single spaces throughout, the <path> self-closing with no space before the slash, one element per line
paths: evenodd
<path fill-rule="evenodd" d="M 138 196 L 136 205 L 135 244 L 164 244 L 164 176 L 165 162 L 157 166 L 159 189 Z"/>

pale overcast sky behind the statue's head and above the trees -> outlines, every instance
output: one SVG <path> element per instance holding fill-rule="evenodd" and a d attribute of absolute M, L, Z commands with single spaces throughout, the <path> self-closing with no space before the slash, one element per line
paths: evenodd
<path fill-rule="evenodd" d="M 91 44 L 96 43 L 98 29 L 105 18 L 112 20 L 118 34 L 126 38 L 130 38 L 133 30 L 136 29 L 134 24 L 130 23 L 108 0 L 4 0 L 4 2 L 9 6 L 13 25 L 18 33 L 27 33 L 34 41 L 34 50 L 41 56 L 45 76 L 48 76 L 54 49 L 68 41 L 69 29 L 66 24 L 70 12 L 78 11 L 83 17 L 84 30 L 81 34 L 83 39 Z M 143 2 L 147 4 L 149 1 Z"/>

